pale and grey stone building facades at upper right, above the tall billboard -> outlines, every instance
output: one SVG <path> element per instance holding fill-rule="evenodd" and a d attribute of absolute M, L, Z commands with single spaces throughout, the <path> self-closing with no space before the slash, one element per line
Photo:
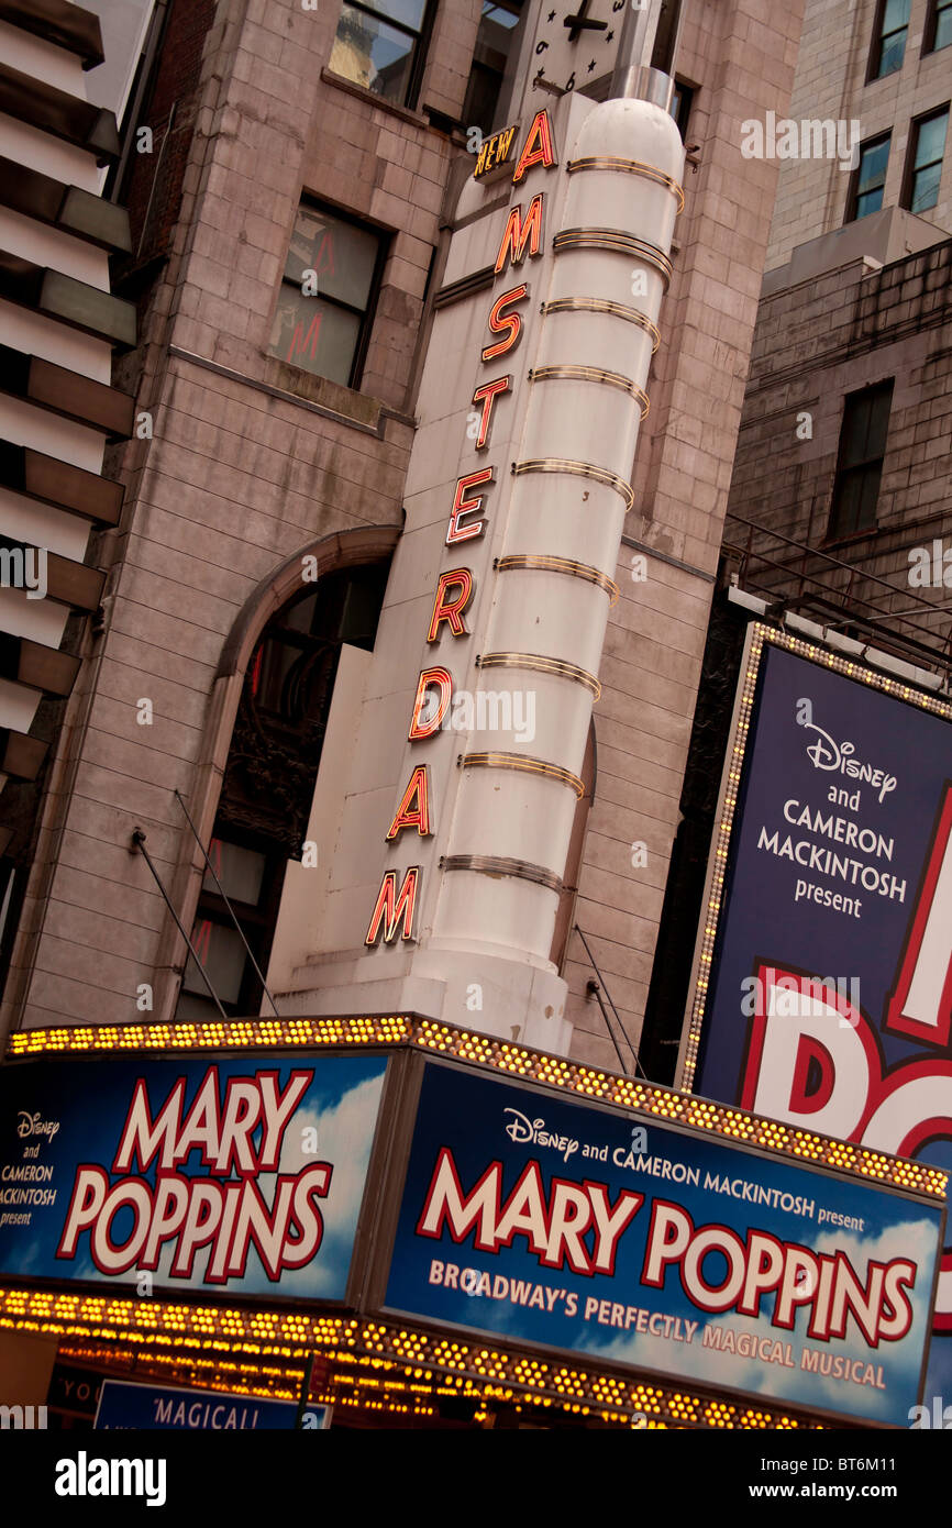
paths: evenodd
<path fill-rule="evenodd" d="M 834 591 L 848 587 L 857 610 L 871 602 L 871 619 L 946 657 L 941 581 L 908 575 L 911 553 L 949 532 L 950 47 L 952 18 L 937 0 L 807 6 L 790 98 L 799 154 L 778 160 L 729 504 L 848 564 L 798 567 Z M 848 128 L 848 160 L 805 142 L 804 128 L 821 119 Z M 876 388 L 883 406 L 866 497 L 845 506 L 850 414 Z M 743 536 L 729 530 L 727 539 Z M 920 659 L 929 668 L 928 652 Z"/>

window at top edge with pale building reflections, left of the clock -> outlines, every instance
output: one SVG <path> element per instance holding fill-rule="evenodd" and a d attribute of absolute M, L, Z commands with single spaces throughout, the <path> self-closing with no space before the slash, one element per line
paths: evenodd
<path fill-rule="evenodd" d="M 365 90 L 413 105 L 426 52 L 426 0 L 345 0 L 329 67 Z"/>

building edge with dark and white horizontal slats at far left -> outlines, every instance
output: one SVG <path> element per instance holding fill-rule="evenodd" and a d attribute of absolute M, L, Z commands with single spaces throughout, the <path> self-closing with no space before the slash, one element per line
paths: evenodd
<path fill-rule="evenodd" d="M 99 21 L 60 0 L 11 3 L 0 21 L 0 950 L 6 964 L 31 865 L 50 853 L 40 819 L 64 790 L 58 740 L 83 709 L 99 545 L 122 515 L 107 448 L 133 431 L 113 359 L 136 342 L 134 306 L 110 290 L 130 251 L 104 199 L 116 122 L 87 93 Z M 55 853 L 60 853 L 57 850 Z M 66 853 L 69 853 L 66 850 Z M 32 898 L 21 940 L 32 944 Z"/>

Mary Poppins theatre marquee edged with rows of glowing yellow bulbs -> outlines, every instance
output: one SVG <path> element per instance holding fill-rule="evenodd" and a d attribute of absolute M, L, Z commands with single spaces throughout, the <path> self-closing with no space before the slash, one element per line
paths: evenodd
<path fill-rule="evenodd" d="M 384 1105 L 391 1108 L 387 1123 L 374 1131 L 380 1051 L 390 1056 L 397 1086 Z M 935 1251 L 929 1253 L 928 1236 L 934 1229 L 938 1239 L 943 1216 L 946 1178 L 934 1167 L 403 1015 L 20 1030 L 9 1054 L 0 1073 L 0 1319 L 66 1339 L 70 1361 L 95 1363 L 93 1349 L 104 1342 L 131 1358 L 145 1342 L 154 1355 L 165 1354 L 171 1377 L 185 1345 L 188 1366 L 199 1361 L 211 1374 L 215 1355 L 229 1365 L 240 1355 L 243 1372 L 254 1377 L 252 1389 L 293 1395 L 300 1372 L 290 1390 L 275 1390 L 274 1365 L 284 1360 L 300 1368 L 309 1352 L 319 1351 L 341 1354 L 347 1374 L 355 1372 L 355 1358 L 367 1363 L 371 1386 L 379 1383 L 380 1361 L 408 1365 L 416 1390 L 420 1375 L 429 1384 L 445 1369 L 452 1337 L 454 1369 L 477 1387 L 491 1381 L 523 1401 L 591 1406 L 602 1415 L 646 1413 L 649 1426 L 816 1426 L 816 1420 L 790 1416 L 785 1401 L 779 1412 L 770 1401 L 795 1380 L 804 1384 L 796 1404 L 811 1416 L 848 1412 L 857 1395 L 868 1397 L 880 1418 L 886 1407 L 900 1407 L 897 1384 L 905 1386 L 914 1368 L 920 1288 Z M 443 1065 L 434 1068 L 437 1054 Z M 214 1091 L 209 1067 L 217 1074 Z M 312 1071 L 313 1082 L 293 1106 L 295 1074 Z M 431 1071 L 439 1076 L 432 1079 Z M 417 1099 L 417 1079 L 423 1080 L 419 1108 L 402 1102 Z M 138 1088 L 142 1082 L 145 1091 Z M 486 1083 L 506 1089 L 509 1112 L 495 1112 L 500 1100 L 494 1102 Z M 255 1094 L 263 1117 L 252 1125 Z M 391 1126 L 402 1120 L 399 1138 L 406 1141 L 414 1118 L 408 1172 L 410 1144 L 394 1152 Z M 367 1167 L 367 1141 L 374 1134 L 377 1155 Z M 134 1178 L 112 1170 L 119 1151 L 131 1154 L 138 1169 L 153 1148 L 151 1164 Z M 159 1219 L 138 1224 L 136 1199 L 122 1206 L 121 1193 L 108 1210 L 102 1207 L 99 1235 L 124 1258 L 139 1239 L 142 1265 L 96 1276 L 89 1258 L 92 1222 L 79 1229 L 73 1259 L 55 1258 L 81 1167 L 108 1170 L 110 1193 L 130 1183 L 154 1189 L 154 1169 L 183 1178 L 189 1196 L 199 1196 L 193 1184 L 205 1186 L 211 1199 L 219 1187 L 234 1195 L 241 1161 L 270 1163 L 275 1154 L 277 1175 L 244 1175 L 252 1184 L 244 1192 L 248 1210 L 257 1206 L 254 1187 L 260 1195 L 248 1218 L 254 1235 L 244 1280 L 173 1282 L 168 1261 L 183 1236 L 196 1245 L 196 1274 L 222 1239 L 214 1216 L 200 1229 L 209 1235 L 206 1245 L 188 1216 L 176 1225 L 174 1189 L 160 1227 L 168 1242 L 154 1273 L 147 1267 L 147 1242 L 150 1232 L 159 1232 Z M 252 1267 L 257 1239 L 270 1242 L 272 1264 L 283 1251 L 295 1256 L 296 1238 L 284 1238 L 275 1215 L 281 1207 L 277 1180 L 300 1181 L 304 1161 L 321 1175 L 332 1167 L 329 1192 L 312 1206 L 321 1218 L 321 1244 L 307 1267 L 286 1267 L 280 1280 L 267 1280 L 261 1265 Z M 480 1181 L 487 1169 L 489 1187 Z M 394 1213 L 403 1203 L 413 1261 L 402 1288 L 390 1215 L 364 1221 L 368 1236 L 361 1239 L 350 1276 L 345 1271 L 370 1180 L 380 1186 L 376 1203 L 393 1206 Z M 666 1207 L 659 1209 L 652 1229 L 659 1199 Z M 87 1213 L 81 1201 L 73 1209 Z M 426 1222 L 417 1239 L 423 1209 Z M 440 1216 L 439 1236 L 429 1235 Z M 866 1254 L 850 1218 L 862 1218 L 863 1233 L 879 1238 L 876 1256 Z M 758 1236 L 749 1236 L 750 1230 Z M 654 1262 L 642 1291 L 634 1274 L 643 1265 L 645 1232 Z M 477 1235 L 486 1247 L 475 1247 Z M 836 1268 L 830 1264 L 834 1251 L 844 1254 Z M 733 1306 L 714 1309 L 727 1293 L 718 1285 L 726 1273 L 720 1256 L 730 1261 L 733 1279 L 744 1270 L 744 1282 L 732 1294 Z M 434 1259 L 442 1271 L 434 1270 Z M 439 1280 L 429 1277 L 434 1271 Z M 660 1287 L 651 1282 L 659 1277 Z M 73 1280 L 92 1284 L 84 1290 Z M 344 1280 L 356 1314 L 327 1305 Z M 183 1290 L 189 1291 L 185 1302 Z M 697 1308 L 685 1306 L 678 1291 L 692 1300 L 697 1294 Z M 154 1297 L 142 1299 L 147 1293 Z M 752 1317 L 746 1306 L 755 1296 L 759 1309 Z M 461 1311 L 474 1335 L 446 1332 L 434 1303 L 443 1299 L 457 1300 L 455 1314 L 448 1308 L 446 1319 L 457 1325 Z M 385 1317 L 385 1303 L 419 1311 L 423 1323 L 434 1323 L 431 1331 Z M 573 1306 L 575 1316 L 565 1320 Z M 498 1314 L 489 1317 L 491 1309 Z M 912 1326 L 899 1335 L 909 1311 Z M 776 1323 L 778 1314 L 784 1320 L 792 1314 L 793 1328 Z M 844 1317 L 847 1332 L 839 1337 Z M 688 1322 L 697 1322 L 697 1329 Z M 758 1329 L 746 1331 L 744 1322 L 756 1322 Z M 718 1337 L 727 1326 L 733 1339 Z M 811 1329 L 804 1334 L 804 1326 Z M 489 1331 L 498 1331 L 498 1340 Z M 865 1334 L 879 1335 L 876 1349 Z M 636 1339 L 642 1349 L 634 1357 L 613 1346 Z M 856 1351 L 848 1354 L 844 1343 Z M 604 1366 L 591 1363 L 596 1354 Z M 660 1368 L 642 1372 L 639 1363 L 654 1365 L 656 1355 Z M 697 1386 L 683 1378 L 688 1360 L 697 1365 Z M 278 1384 L 287 1384 L 287 1375 Z M 729 1397 L 723 1387 L 738 1394 Z M 625 1421 L 625 1415 L 613 1420 Z"/>

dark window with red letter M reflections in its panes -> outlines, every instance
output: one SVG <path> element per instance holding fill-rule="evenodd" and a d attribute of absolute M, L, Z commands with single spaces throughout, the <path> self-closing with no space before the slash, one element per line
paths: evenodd
<path fill-rule="evenodd" d="M 384 260 L 384 238 L 303 202 L 287 251 L 270 353 L 356 387 Z"/>

